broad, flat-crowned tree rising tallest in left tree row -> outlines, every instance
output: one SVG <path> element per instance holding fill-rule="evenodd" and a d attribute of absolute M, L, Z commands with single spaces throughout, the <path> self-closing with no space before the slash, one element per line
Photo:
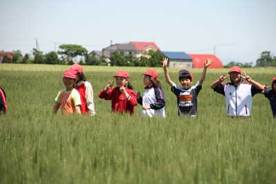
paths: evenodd
<path fill-rule="evenodd" d="M 58 54 L 66 55 L 66 62 L 72 61 L 74 57 L 83 56 L 85 57 L 87 54 L 86 48 L 83 48 L 81 45 L 75 44 L 63 44 L 59 45 Z"/>

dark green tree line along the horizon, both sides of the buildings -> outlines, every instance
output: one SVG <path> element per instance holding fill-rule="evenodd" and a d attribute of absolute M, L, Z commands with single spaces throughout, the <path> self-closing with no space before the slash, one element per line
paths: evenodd
<path fill-rule="evenodd" d="M 110 53 L 110 59 L 104 56 L 95 57 L 88 54 L 88 50 L 83 48 L 81 45 L 76 44 L 63 44 L 59 45 L 59 50 L 57 52 L 48 52 L 43 54 L 43 52 L 33 49 L 32 56 L 21 54 L 20 50 L 14 51 L 12 58 L 8 56 L 3 57 L 2 63 L 37 63 L 37 64 L 58 64 L 58 65 L 71 65 L 75 57 L 81 57 L 79 63 L 81 65 L 111 65 L 111 66 L 146 66 L 146 67 L 159 67 L 161 66 L 161 59 L 164 54 L 160 51 L 150 50 L 142 57 L 134 58 L 132 55 L 122 55 L 120 52 Z M 255 65 L 254 65 L 255 63 Z M 261 53 L 259 59 L 255 62 L 242 63 L 237 61 L 231 61 L 230 63 L 224 65 L 224 68 L 231 68 L 234 65 L 238 65 L 242 68 L 252 68 L 252 67 L 276 67 L 276 57 L 270 53 L 270 51 L 264 51 Z"/>

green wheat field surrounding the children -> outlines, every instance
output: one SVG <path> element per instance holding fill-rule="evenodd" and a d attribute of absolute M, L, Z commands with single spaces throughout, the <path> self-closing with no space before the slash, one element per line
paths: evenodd
<path fill-rule="evenodd" d="M 68 65 L 0 65 L 8 114 L 0 116 L 0 183 L 276 183 L 276 120 L 262 94 L 251 119 L 226 116 L 224 96 L 210 84 L 228 69 L 208 69 L 197 118 L 177 116 L 177 99 L 159 72 L 166 119 L 111 112 L 98 94 L 117 70 L 144 92 L 148 68 L 83 66 L 97 116 L 52 114 Z M 168 68 L 175 83 L 177 71 Z M 244 69 L 265 84 L 273 68 Z M 191 70 L 195 82 L 202 69 Z M 228 80 L 228 79 L 227 79 Z M 195 83 L 194 82 L 194 83 Z"/>

